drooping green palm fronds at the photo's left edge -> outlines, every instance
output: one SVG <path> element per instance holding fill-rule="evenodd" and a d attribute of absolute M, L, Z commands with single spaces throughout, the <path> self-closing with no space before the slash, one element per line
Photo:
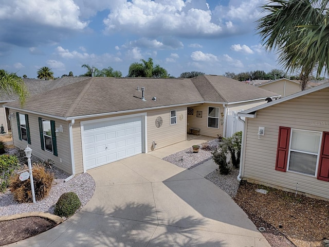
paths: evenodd
<path fill-rule="evenodd" d="M 22 78 L 14 73 L 8 73 L 4 69 L 0 69 L 0 92 L 7 95 L 17 95 L 21 106 L 24 105 L 26 98 L 29 96 L 26 85 Z"/>

